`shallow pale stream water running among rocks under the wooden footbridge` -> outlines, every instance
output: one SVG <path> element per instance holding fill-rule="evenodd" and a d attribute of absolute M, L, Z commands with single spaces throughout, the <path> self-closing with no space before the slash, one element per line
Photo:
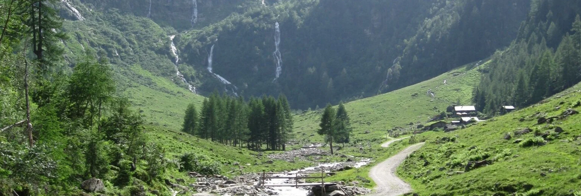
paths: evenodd
<path fill-rule="evenodd" d="M 353 167 L 354 168 L 360 168 L 364 165 L 369 164 L 371 161 L 371 159 L 361 159 L 360 162 L 357 162 Z M 274 176 L 279 176 L 279 177 L 295 177 L 296 173 L 307 173 L 307 172 L 314 172 L 314 171 L 321 171 L 321 167 L 323 168 L 330 168 L 333 166 L 337 166 L 343 164 L 343 162 L 336 162 L 336 163 L 330 163 L 330 164 L 319 164 L 317 166 L 313 166 L 310 168 L 304 168 L 304 169 L 300 169 L 300 170 L 294 170 L 291 172 L 288 172 L 288 174 L 278 174 L 278 175 L 274 175 Z M 325 171 L 325 172 L 329 172 L 329 171 Z M 267 180 L 264 182 L 265 184 L 295 184 L 295 180 L 289 180 L 289 179 L 272 179 L 272 180 Z M 303 187 L 304 188 L 304 187 Z M 297 188 L 297 187 L 272 187 L 272 189 L 274 191 L 276 191 L 278 193 L 279 196 L 303 196 L 303 195 L 308 195 L 309 194 L 309 190 L 307 189 L 303 189 L 303 188 Z"/>

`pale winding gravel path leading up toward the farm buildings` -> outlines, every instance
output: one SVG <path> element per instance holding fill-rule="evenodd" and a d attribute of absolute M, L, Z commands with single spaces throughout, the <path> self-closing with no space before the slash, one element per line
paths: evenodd
<path fill-rule="evenodd" d="M 406 138 L 408 137 L 387 141 L 386 143 L 383 143 L 381 147 L 387 148 L 390 144 Z M 407 158 L 408 155 L 424 146 L 424 144 L 425 143 L 417 143 L 411 145 L 371 168 L 369 176 L 375 182 L 376 187 L 374 188 L 374 193 L 368 196 L 396 196 L 411 192 L 410 184 L 396 176 L 396 168 Z"/>

